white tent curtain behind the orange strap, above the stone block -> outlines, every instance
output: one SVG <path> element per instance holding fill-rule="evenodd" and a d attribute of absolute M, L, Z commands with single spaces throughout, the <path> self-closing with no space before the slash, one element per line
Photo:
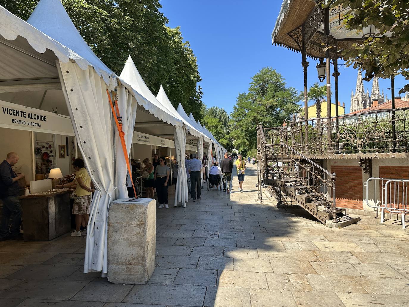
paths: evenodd
<path fill-rule="evenodd" d="M 117 97 L 119 114 L 122 117 L 122 131 L 125 133 L 126 156 L 129 157 L 133 130 L 135 127 L 137 101 L 123 85 L 117 87 Z M 128 190 L 126 189 L 126 174 L 128 173 L 128 167 L 126 165 L 121 138 L 119 137 L 117 129 L 115 129 L 115 153 L 117 163 L 117 198 L 126 198 L 128 197 Z"/>

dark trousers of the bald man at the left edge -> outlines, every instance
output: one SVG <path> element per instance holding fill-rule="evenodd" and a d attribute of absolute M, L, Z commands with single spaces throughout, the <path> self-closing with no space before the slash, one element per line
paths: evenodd
<path fill-rule="evenodd" d="M 17 196 L 6 196 L 3 201 L 3 214 L 1 219 L 0 238 L 15 237 L 20 233 L 21 217 L 23 210 Z M 11 228 L 9 233 L 9 221 Z"/>

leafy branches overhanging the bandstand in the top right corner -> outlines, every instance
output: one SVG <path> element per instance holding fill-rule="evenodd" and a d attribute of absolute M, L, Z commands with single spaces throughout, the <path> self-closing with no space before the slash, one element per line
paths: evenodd
<path fill-rule="evenodd" d="M 324 0 L 324 7 L 350 7 L 344 18 L 346 29 L 362 30 L 375 25 L 375 38 L 357 42 L 342 50 L 347 66 L 362 67 L 364 80 L 374 76 L 390 78 L 402 74 L 409 80 L 409 2 L 402 0 Z M 399 94 L 409 90 L 406 84 Z"/>

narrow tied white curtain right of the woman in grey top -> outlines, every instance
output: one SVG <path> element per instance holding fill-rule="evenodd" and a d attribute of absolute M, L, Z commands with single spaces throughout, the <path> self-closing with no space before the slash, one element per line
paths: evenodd
<path fill-rule="evenodd" d="M 186 130 L 184 127 L 173 126 L 174 138 L 175 138 L 175 151 L 176 159 L 178 160 L 178 180 L 175 187 L 175 207 L 178 203 L 182 203 L 183 207 L 186 207 L 186 202 L 189 199 L 187 193 L 187 174 L 184 167 L 184 151 L 186 149 Z"/>

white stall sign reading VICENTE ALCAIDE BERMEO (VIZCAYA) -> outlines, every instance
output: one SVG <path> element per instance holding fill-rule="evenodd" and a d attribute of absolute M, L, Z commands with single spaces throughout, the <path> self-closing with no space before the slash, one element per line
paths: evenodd
<path fill-rule="evenodd" d="M 0 100 L 0 127 L 74 136 L 70 117 Z"/>

